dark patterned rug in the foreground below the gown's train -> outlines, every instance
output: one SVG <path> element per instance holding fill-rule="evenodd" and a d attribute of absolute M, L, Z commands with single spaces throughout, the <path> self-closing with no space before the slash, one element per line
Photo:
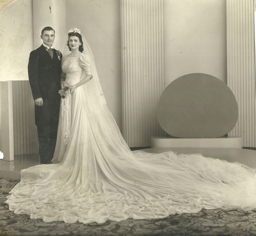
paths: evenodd
<path fill-rule="evenodd" d="M 162 219 L 105 223 L 45 223 L 31 220 L 28 215 L 16 215 L 5 204 L 9 191 L 19 180 L 0 178 L 1 236 L 170 236 L 170 235 L 253 235 L 256 234 L 256 210 L 202 210 L 194 214 L 175 214 Z"/>

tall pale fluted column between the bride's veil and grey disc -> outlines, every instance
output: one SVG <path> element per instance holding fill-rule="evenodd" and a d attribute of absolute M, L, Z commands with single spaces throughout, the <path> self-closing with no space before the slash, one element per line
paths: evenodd
<path fill-rule="evenodd" d="M 130 147 L 162 136 L 155 114 L 164 90 L 163 1 L 122 0 L 123 137 Z"/>

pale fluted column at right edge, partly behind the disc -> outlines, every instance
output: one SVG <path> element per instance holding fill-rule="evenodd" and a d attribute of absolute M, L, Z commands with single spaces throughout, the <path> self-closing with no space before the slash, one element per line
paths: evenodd
<path fill-rule="evenodd" d="M 227 85 L 238 102 L 238 122 L 229 136 L 256 147 L 254 0 L 227 0 Z"/>

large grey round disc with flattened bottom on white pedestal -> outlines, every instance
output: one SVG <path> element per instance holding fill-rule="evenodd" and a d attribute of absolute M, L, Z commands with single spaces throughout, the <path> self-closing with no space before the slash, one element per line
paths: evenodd
<path fill-rule="evenodd" d="M 217 138 L 230 132 L 238 119 L 238 105 L 227 85 L 214 76 L 187 74 L 163 91 L 158 122 L 179 138 Z"/>

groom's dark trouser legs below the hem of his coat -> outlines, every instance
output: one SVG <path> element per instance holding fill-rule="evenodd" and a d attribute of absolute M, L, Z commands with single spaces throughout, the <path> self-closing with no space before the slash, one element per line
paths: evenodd
<path fill-rule="evenodd" d="M 39 156 L 41 163 L 48 163 L 53 158 L 56 139 L 57 139 L 58 125 L 38 125 L 38 143 L 39 143 Z"/>

